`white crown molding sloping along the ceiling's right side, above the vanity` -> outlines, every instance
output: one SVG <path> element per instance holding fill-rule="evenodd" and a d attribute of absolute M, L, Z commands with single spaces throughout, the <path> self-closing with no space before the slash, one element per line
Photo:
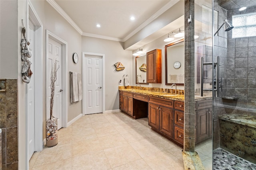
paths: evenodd
<path fill-rule="evenodd" d="M 142 28 L 146 27 L 150 22 L 158 18 L 160 15 L 162 15 L 164 12 L 166 12 L 168 9 L 170 9 L 172 6 L 174 6 L 179 0 L 170 0 L 165 6 L 163 6 L 160 10 L 158 10 L 154 15 L 152 15 L 148 20 L 146 20 L 144 23 L 142 23 L 140 26 L 138 26 L 134 31 L 132 31 L 130 34 L 128 34 L 124 39 L 122 39 L 122 42 L 128 40 L 130 37 L 132 37 L 134 34 L 136 34 L 138 31 L 140 31 Z"/>

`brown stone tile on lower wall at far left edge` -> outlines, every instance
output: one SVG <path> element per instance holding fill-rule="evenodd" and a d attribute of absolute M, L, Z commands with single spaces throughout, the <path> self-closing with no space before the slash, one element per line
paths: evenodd
<path fill-rule="evenodd" d="M 2 169 L 18 170 L 18 90 L 17 79 L 6 79 L 6 92 L 0 92 L 2 129 Z"/>

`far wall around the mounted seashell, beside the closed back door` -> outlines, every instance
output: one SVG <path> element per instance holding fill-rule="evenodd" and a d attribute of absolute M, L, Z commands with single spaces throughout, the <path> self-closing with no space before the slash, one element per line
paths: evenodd
<path fill-rule="evenodd" d="M 129 76 L 130 86 L 135 81 L 132 72 L 132 51 L 125 51 L 122 43 L 118 41 L 86 36 L 82 36 L 82 51 L 105 55 L 105 111 L 119 109 L 118 82 L 122 80 L 124 86 L 124 74 Z M 121 62 L 125 69 L 116 71 L 116 62 Z"/>

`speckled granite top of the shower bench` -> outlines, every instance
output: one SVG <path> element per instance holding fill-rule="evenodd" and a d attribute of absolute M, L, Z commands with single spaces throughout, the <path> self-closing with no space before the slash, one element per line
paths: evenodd
<path fill-rule="evenodd" d="M 256 115 L 224 114 L 219 119 L 256 128 Z"/>

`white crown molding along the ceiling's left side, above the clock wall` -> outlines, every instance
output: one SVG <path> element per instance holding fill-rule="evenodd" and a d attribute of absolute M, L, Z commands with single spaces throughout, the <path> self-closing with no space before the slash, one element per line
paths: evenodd
<path fill-rule="evenodd" d="M 72 25 L 72 27 L 74 27 L 74 29 L 76 29 L 76 31 L 78 31 L 78 33 L 80 33 L 82 35 L 83 31 L 76 25 L 76 23 L 68 16 L 68 14 L 66 12 L 64 12 L 64 10 L 62 10 L 62 8 L 60 8 L 60 6 L 54 1 L 54 0 L 46 0 L 65 20 L 68 21 L 68 23 L 70 23 L 70 25 Z"/>

